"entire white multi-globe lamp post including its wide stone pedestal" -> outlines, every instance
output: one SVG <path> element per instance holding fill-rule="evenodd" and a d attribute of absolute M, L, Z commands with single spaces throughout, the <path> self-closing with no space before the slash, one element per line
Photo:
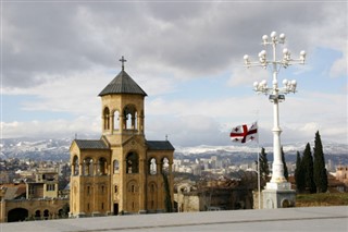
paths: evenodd
<path fill-rule="evenodd" d="M 284 167 L 282 161 L 282 151 L 281 151 L 281 133 L 282 129 L 279 126 L 279 109 L 278 103 L 285 100 L 285 94 L 296 93 L 297 83 L 296 81 L 284 80 L 284 87 L 278 87 L 277 74 L 281 68 L 287 68 L 294 63 L 304 64 L 306 52 L 300 52 L 300 58 L 294 60 L 290 58 L 290 52 L 287 48 L 283 49 L 283 59 L 276 59 L 276 46 L 278 44 L 285 42 L 285 35 L 281 34 L 277 36 L 275 32 L 271 33 L 271 39 L 269 36 L 262 36 L 262 42 L 266 47 L 268 45 L 272 46 L 273 59 L 266 59 L 266 51 L 262 50 L 259 53 L 259 61 L 251 62 L 249 57 L 244 56 L 245 64 L 249 66 L 262 66 L 266 69 L 272 66 L 273 80 L 272 87 L 268 87 L 266 81 L 253 83 L 254 90 L 257 93 L 262 93 L 269 95 L 269 99 L 273 102 L 273 163 L 272 163 L 272 179 L 266 183 L 263 194 L 263 208 L 282 208 L 295 206 L 295 191 L 291 190 L 291 184 L 286 181 L 284 178 Z"/>

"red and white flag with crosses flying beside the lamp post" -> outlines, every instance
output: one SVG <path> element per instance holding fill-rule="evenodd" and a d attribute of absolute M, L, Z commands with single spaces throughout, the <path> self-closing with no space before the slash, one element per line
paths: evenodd
<path fill-rule="evenodd" d="M 258 122 L 252 123 L 249 129 L 246 124 L 233 127 L 229 136 L 232 142 L 241 144 L 249 141 L 259 142 Z"/>

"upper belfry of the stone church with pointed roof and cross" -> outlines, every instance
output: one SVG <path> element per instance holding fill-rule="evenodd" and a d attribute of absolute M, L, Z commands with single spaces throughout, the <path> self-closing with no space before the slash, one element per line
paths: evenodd
<path fill-rule="evenodd" d="M 144 98 L 147 94 L 125 72 L 124 57 L 120 61 L 122 71 L 99 94 L 102 135 L 111 145 L 129 136 L 144 136 Z"/>

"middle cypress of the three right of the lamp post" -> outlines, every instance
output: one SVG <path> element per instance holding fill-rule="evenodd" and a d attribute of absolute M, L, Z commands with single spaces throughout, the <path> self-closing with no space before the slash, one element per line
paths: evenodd
<path fill-rule="evenodd" d="M 312 157 L 312 151 L 309 143 L 307 143 L 306 148 L 303 150 L 301 164 L 304 173 L 306 191 L 308 191 L 311 194 L 315 193 L 316 187 L 315 187 L 314 178 L 313 178 L 313 157 Z"/>

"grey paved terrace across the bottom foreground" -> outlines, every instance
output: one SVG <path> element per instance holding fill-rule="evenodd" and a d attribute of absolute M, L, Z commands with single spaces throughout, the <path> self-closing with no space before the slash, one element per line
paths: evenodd
<path fill-rule="evenodd" d="M 0 224 L 17 231 L 348 231 L 348 207 L 229 210 L 135 216 L 110 216 Z"/>

